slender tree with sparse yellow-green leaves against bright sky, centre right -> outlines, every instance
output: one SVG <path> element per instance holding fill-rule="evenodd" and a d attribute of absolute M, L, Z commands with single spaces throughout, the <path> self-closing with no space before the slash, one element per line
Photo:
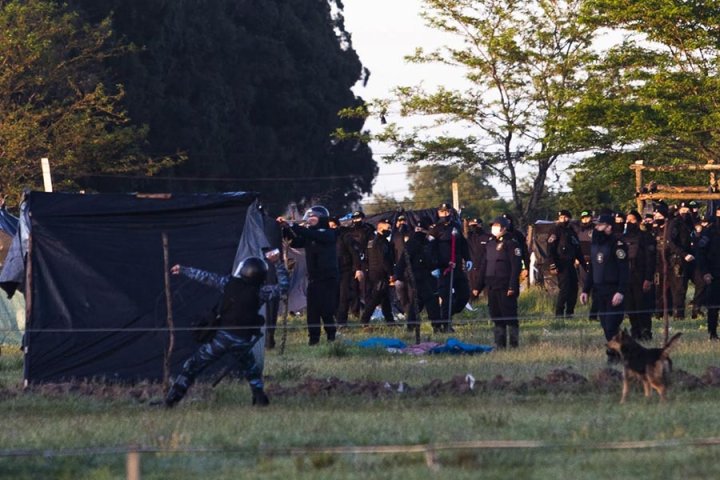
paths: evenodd
<path fill-rule="evenodd" d="M 428 126 L 407 132 L 390 124 L 380 139 L 395 147 L 391 160 L 450 162 L 499 179 L 509 187 L 512 210 L 526 224 L 538 213 L 557 160 L 585 148 L 587 132 L 568 120 L 592 59 L 595 30 L 579 22 L 582 1 L 424 3 L 428 24 L 455 35 L 459 45 L 429 53 L 418 49 L 409 61 L 457 68 L 468 87 L 427 92 L 403 86 L 396 100 L 402 115 L 428 116 L 431 129 L 455 125 L 460 133 L 428 136 Z"/>

